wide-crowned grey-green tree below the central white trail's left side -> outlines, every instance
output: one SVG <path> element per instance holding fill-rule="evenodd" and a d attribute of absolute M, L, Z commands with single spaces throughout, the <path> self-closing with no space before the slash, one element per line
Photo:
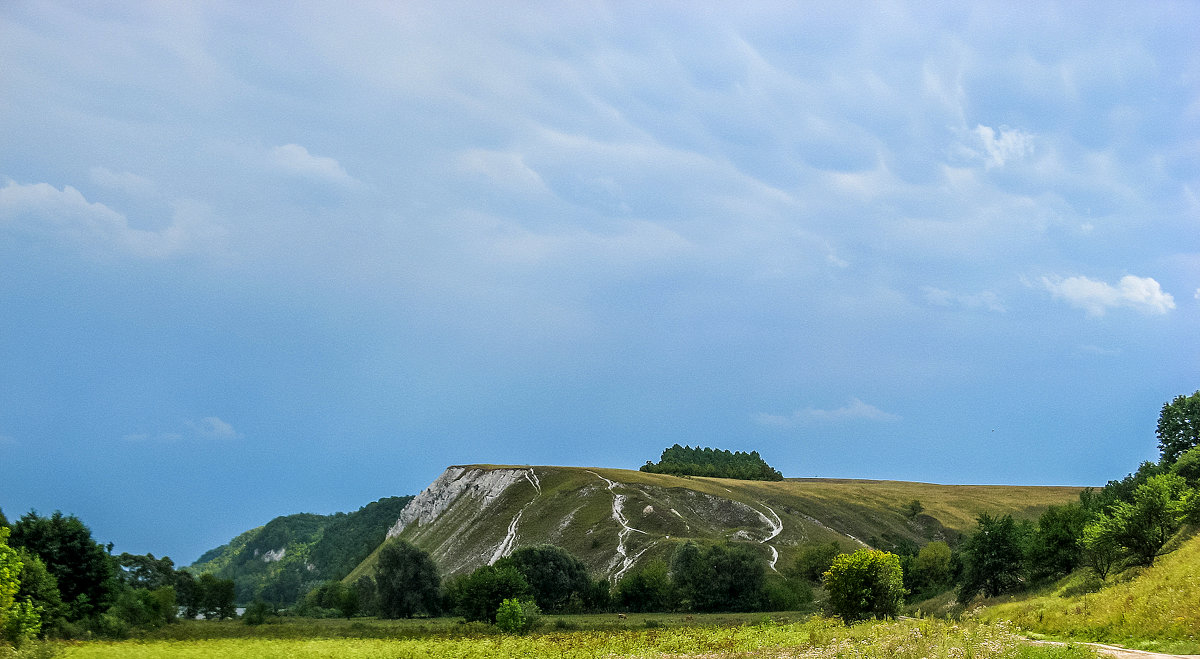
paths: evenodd
<path fill-rule="evenodd" d="M 574 601 L 584 603 L 592 597 L 592 579 L 587 567 L 575 556 L 554 545 L 521 547 L 496 562 L 498 568 L 512 567 L 529 583 L 534 601 L 542 611 L 564 612 Z"/>

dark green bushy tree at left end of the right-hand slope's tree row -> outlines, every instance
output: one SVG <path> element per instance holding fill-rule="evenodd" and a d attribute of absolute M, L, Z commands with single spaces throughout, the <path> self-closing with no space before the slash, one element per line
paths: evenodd
<path fill-rule="evenodd" d="M 1025 543 L 1028 527 L 1012 515 L 994 517 L 983 513 L 979 527 L 962 543 L 962 582 L 959 601 L 970 601 L 980 591 L 996 597 L 1025 582 Z"/>

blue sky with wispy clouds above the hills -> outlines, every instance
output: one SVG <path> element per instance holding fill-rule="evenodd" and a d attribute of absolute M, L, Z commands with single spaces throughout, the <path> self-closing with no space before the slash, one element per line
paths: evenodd
<path fill-rule="evenodd" d="M 0 4 L 0 508 L 1103 485 L 1200 389 L 1195 2 Z"/>

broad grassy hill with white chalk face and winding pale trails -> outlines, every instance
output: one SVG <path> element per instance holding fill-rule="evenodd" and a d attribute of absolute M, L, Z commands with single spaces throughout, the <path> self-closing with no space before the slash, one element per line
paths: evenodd
<path fill-rule="evenodd" d="M 389 537 L 428 551 L 444 575 L 552 543 L 617 580 L 685 540 L 748 541 L 781 569 L 808 543 L 845 549 L 954 541 L 979 513 L 1034 519 L 1078 487 L 881 480 L 749 481 L 625 469 L 472 465 L 448 468 L 401 513 Z M 904 507 L 919 501 L 923 514 Z M 347 577 L 370 574 L 374 553 Z"/>

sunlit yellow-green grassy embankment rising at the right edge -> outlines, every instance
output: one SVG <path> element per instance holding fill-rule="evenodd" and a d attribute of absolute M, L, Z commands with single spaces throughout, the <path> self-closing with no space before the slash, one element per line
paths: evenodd
<path fill-rule="evenodd" d="M 1200 535 L 1151 568 L 1132 568 L 1104 585 L 1096 581 L 1080 571 L 1046 592 L 988 606 L 978 617 L 1008 619 L 1054 637 L 1200 653 Z"/>

